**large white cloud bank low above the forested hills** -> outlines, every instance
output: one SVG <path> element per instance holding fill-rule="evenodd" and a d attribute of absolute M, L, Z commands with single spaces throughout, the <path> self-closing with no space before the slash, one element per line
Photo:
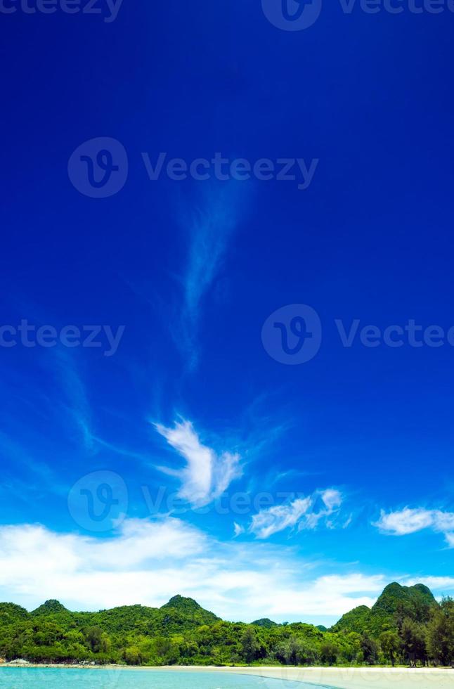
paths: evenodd
<path fill-rule="evenodd" d="M 386 583 L 381 574 L 313 577 L 290 548 L 222 544 L 170 517 L 126 520 L 110 539 L 37 524 L 0 527 L 1 599 L 29 609 L 47 598 L 73 610 L 157 606 L 181 593 L 226 619 L 334 622 L 371 605 Z"/>

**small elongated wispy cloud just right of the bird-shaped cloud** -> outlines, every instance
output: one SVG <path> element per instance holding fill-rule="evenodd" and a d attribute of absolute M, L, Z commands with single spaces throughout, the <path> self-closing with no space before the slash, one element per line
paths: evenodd
<path fill-rule="evenodd" d="M 318 506 L 320 498 L 321 506 Z M 260 510 L 252 517 L 249 533 L 258 539 L 268 539 L 285 529 L 315 529 L 320 520 L 326 520 L 342 504 L 342 495 L 335 489 L 317 491 L 313 496 L 296 498 L 284 505 Z"/>

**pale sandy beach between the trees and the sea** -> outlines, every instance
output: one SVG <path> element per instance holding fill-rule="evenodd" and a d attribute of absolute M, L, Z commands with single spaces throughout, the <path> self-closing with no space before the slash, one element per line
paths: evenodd
<path fill-rule="evenodd" d="M 134 667 L 125 665 L 15 664 L 1 668 L 54 668 L 84 670 L 132 670 L 135 672 L 211 672 L 281 679 L 294 683 L 306 682 L 330 689 L 454 689 L 454 669 L 450 668 L 368 668 L 368 667 L 216 667 L 163 666 Z"/>

